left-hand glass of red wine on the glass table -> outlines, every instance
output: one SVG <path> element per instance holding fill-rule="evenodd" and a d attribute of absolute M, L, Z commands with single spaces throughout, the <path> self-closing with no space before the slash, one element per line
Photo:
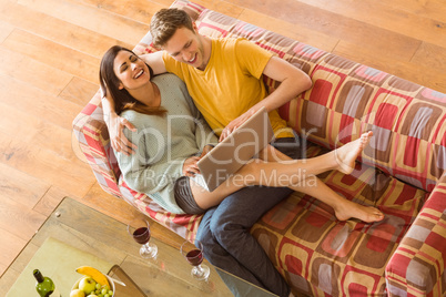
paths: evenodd
<path fill-rule="evenodd" d="M 140 255 L 143 258 L 156 258 L 158 246 L 150 240 L 150 224 L 144 218 L 135 218 L 126 226 L 128 233 L 141 244 Z"/>

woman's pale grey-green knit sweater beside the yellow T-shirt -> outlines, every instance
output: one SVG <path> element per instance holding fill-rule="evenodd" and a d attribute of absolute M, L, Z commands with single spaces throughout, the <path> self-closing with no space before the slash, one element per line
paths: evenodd
<path fill-rule="evenodd" d="M 126 156 L 114 152 L 125 183 L 134 191 L 148 194 L 168 212 L 184 214 L 176 205 L 173 185 L 182 176 L 184 161 L 200 154 L 206 144 L 217 139 L 196 110 L 183 81 L 174 74 L 152 79 L 161 92 L 165 115 L 148 115 L 128 110 L 121 113 L 136 132 L 124 129 L 125 136 L 138 145 L 138 152 Z"/>

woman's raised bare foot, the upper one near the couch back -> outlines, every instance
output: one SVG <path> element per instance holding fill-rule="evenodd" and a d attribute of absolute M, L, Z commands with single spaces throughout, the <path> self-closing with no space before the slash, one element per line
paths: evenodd
<path fill-rule="evenodd" d="M 359 139 L 352 141 L 339 148 L 334 151 L 337 170 L 344 174 L 351 174 L 355 168 L 355 161 L 357 156 L 367 146 L 373 132 L 368 131 L 361 135 Z"/>

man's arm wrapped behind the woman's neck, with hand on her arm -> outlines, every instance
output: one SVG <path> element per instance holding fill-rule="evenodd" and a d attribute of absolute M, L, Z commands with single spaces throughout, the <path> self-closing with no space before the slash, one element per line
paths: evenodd
<path fill-rule="evenodd" d="M 152 68 L 155 74 L 165 72 L 162 51 L 143 54 L 140 58 Z M 110 142 L 112 147 L 116 152 L 122 152 L 125 155 L 133 154 L 138 146 L 131 143 L 125 137 L 123 131 L 124 127 L 131 131 L 135 131 L 135 129 L 129 121 L 116 114 L 114 110 L 114 102 L 113 99 L 110 96 L 110 92 L 107 92 L 107 96 L 102 95 L 102 110 L 105 124 L 109 129 Z"/>

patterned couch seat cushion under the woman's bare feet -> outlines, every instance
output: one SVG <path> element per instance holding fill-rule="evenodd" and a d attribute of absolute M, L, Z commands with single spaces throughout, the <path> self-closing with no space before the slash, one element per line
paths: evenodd
<path fill-rule="evenodd" d="M 317 150 L 308 154 L 321 153 Z M 330 172 L 318 177 L 349 201 L 376 205 L 385 218 L 374 224 L 339 222 L 326 204 L 294 193 L 253 226 L 253 235 L 302 293 L 384 295 L 387 262 L 428 193 L 359 163 L 352 175 Z"/>

